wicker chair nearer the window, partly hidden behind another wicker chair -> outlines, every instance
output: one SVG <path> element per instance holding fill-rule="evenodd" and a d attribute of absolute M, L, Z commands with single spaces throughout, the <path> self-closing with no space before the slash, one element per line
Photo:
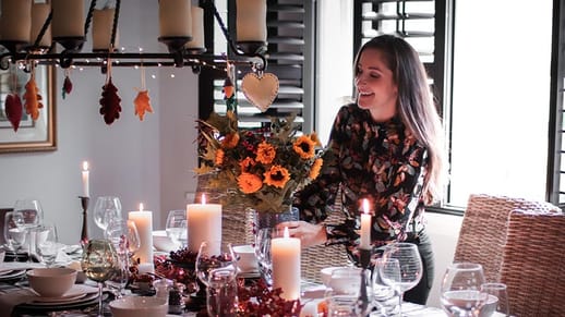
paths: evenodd
<path fill-rule="evenodd" d="M 480 263 L 485 280 L 500 280 L 508 215 L 516 209 L 538 212 L 561 210 L 545 202 L 472 194 L 461 223 L 454 261 Z"/>

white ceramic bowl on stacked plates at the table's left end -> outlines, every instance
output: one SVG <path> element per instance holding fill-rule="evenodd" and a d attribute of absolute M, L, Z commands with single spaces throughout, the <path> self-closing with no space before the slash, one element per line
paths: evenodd
<path fill-rule="evenodd" d="M 45 297 L 60 297 L 76 281 L 76 270 L 71 268 L 37 268 L 27 271 L 29 286 Z"/>

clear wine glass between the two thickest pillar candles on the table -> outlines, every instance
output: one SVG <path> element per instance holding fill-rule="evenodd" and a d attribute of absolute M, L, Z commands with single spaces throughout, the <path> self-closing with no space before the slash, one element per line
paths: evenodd
<path fill-rule="evenodd" d="M 196 277 L 204 285 L 208 285 L 208 279 L 212 270 L 224 269 L 231 272 L 236 278 L 238 272 L 236 254 L 231 247 L 231 243 L 221 246 L 220 242 L 202 242 L 199 255 L 196 256 Z"/>

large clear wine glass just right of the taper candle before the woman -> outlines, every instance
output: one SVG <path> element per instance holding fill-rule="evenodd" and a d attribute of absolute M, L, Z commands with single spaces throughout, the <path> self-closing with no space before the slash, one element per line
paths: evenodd
<path fill-rule="evenodd" d="M 385 246 L 383 258 L 395 258 L 398 260 L 400 280 L 398 281 L 396 277 L 387 275 L 394 271 L 384 270 L 382 271 L 384 273 L 382 277 L 386 283 L 389 283 L 390 286 L 397 290 L 400 296 L 398 312 L 399 315 L 402 316 L 404 293 L 418 285 L 422 278 L 423 265 L 420 252 L 418 251 L 418 246 L 413 243 L 395 242 Z M 394 273 L 396 275 L 396 272 Z"/>

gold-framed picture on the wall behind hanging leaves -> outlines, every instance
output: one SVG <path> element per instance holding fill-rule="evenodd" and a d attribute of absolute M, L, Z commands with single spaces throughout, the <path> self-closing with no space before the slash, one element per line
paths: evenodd
<path fill-rule="evenodd" d="M 15 66 L 8 71 L 0 71 L 0 154 L 57 149 L 55 76 L 53 66 L 36 66 L 35 81 L 44 107 L 39 109 L 39 118 L 36 121 L 33 121 L 24 109 L 20 127 L 15 132 L 5 115 L 5 97 L 15 85 L 23 105 L 25 84 L 29 80 L 29 74 Z"/>

